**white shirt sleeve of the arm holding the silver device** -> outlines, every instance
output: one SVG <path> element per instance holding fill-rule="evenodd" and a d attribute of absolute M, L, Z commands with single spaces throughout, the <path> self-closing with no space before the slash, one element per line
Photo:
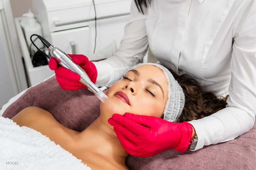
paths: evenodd
<path fill-rule="evenodd" d="M 138 12 L 132 1 L 130 18 L 124 28 L 124 37 L 113 56 L 94 62 L 98 76 L 96 85 L 111 86 L 133 65 L 142 62 L 148 49 L 145 20 L 147 15 Z"/>

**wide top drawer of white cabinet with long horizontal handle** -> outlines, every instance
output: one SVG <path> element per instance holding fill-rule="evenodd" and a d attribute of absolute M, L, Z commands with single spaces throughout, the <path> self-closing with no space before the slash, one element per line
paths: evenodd
<path fill-rule="evenodd" d="M 94 0 L 97 19 L 129 15 L 131 0 Z M 91 0 L 36 0 L 33 7 L 39 22 L 50 32 L 88 26 L 95 18 Z"/>

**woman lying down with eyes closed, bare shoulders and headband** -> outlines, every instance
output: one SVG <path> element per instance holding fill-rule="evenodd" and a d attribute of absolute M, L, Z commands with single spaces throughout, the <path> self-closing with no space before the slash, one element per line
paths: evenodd
<path fill-rule="evenodd" d="M 134 66 L 108 89 L 108 100 L 100 103 L 100 116 L 82 132 L 66 128 L 39 107 L 27 107 L 12 120 L 19 126 L 41 132 L 93 170 L 128 169 L 125 165 L 128 153 L 109 124 L 112 115 L 128 112 L 186 125 L 183 121 L 208 116 L 226 106 L 225 100 L 203 93 L 194 80 L 185 76 L 176 79 L 181 86 L 172 73 L 159 64 Z"/>

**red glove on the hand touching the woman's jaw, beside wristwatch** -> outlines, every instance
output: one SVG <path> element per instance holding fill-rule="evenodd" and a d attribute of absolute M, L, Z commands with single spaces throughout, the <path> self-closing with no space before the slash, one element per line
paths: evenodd
<path fill-rule="evenodd" d="M 114 114 L 108 119 L 114 126 L 124 150 L 133 156 L 149 157 L 168 149 L 188 149 L 193 128 L 188 122 L 174 123 L 154 116 Z"/>

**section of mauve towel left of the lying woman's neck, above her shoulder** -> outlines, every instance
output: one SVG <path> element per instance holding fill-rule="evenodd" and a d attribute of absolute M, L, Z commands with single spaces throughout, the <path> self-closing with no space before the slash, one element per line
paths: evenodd
<path fill-rule="evenodd" d="M 29 88 L 2 116 L 12 118 L 22 109 L 36 106 L 49 111 L 61 124 L 82 131 L 100 114 L 100 100 L 88 89 L 63 90 L 55 76 Z"/>

